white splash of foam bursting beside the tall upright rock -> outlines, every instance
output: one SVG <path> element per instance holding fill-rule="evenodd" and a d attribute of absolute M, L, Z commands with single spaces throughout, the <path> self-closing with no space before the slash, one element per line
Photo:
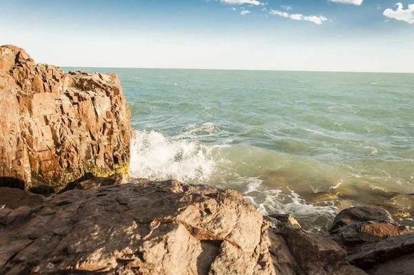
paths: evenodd
<path fill-rule="evenodd" d="M 137 131 L 131 140 L 130 177 L 202 182 L 215 171 L 214 149 L 198 142 L 169 140 L 155 131 Z"/>

